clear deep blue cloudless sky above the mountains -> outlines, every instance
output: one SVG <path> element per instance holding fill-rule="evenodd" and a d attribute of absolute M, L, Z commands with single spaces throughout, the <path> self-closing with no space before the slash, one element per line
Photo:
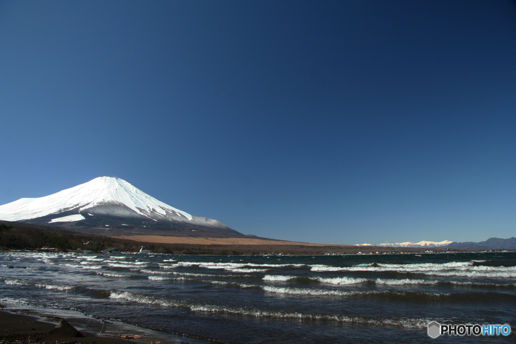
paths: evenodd
<path fill-rule="evenodd" d="M 264 237 L 516 236 L 516 3 L 0 1 L 0 204 L 98 176 Z"/>

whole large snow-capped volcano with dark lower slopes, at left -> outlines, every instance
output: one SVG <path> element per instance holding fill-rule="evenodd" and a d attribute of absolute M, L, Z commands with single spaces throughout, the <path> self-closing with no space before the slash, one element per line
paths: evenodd
<path fill-rule="evenodd" d="M 0 220 L 107 235 L 244 236 L 217 220 L 192 216 L 112 177 L 1 205 Z"/>

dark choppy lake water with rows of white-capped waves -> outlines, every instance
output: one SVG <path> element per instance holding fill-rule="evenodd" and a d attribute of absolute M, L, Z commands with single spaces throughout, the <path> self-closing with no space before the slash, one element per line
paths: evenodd
<path fill-rule="evenodd" d="M 13 267 L 13 268 L 9 268 Z M 509 324 L 516 254 L 173 256 L 0 252 L 0 301 L 231 343 L 432 339 L 427 323 Z"/>

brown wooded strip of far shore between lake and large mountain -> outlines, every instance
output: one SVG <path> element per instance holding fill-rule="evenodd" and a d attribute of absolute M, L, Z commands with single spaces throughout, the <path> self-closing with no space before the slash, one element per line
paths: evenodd
<path fill-rule="evenodd" d="M 170 244 L 135 241 L 101 235 L 62 230 L 55 227 L 36 226 L 19 222 L 0 223 L 0 250 L 79 251 L 79 252 L 138 252 L 141 248 L 156 254 L 185 255 L 340 255 L 340 254 L 394 254 L 470 252 L 474 250 L 442 248 L 397 248 L 356 245 L 219 245 Z"/>

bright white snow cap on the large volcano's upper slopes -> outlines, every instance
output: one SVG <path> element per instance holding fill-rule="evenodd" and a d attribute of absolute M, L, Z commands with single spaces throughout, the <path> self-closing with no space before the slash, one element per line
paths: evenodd
<path fill-rule="evenodd" d="M 136 214 L 184 218 L 192 220 L 185 211 L 176 209 L 135 188 L 123 179 L 98 177 L 73 188 L 40 198 L 22 198 L 0 206 L 0 219 L 20 221 L 77 209 L 83 212 L 100 205 L 122 205 Z"/>

